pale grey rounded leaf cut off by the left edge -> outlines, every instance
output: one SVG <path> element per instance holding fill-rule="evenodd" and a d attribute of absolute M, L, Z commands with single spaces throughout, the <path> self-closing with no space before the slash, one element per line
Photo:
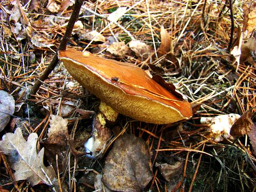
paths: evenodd
<path fill-rule="evenodd" d="M 4 127 L 10 121 L 10 115 L 14 113 L 15 101 L 13 96 L 5 91 L 0 91 L 0 131 L 4 130 Z"/>

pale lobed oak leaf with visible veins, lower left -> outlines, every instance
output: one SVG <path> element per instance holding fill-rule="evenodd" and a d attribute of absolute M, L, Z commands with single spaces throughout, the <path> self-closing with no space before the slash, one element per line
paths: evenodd
<path fill-rule="evenodd" d="M 52 166 L 44 166 L 44 148 L 37 154 L 37 134 L 31 133 L 27 141 L 22 131 L 17 128 L 14 133 L 6 133 L 0 141 L 0 151 L 8 156 L 9 164 L 15 170 L 14 178 L 28 180 L 31 186 L 45 183 L 53 185 L 56 175 Z"/>

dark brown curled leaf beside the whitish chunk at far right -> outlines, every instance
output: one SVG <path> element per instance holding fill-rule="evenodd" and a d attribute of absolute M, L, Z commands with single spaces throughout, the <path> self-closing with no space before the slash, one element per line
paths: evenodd
<path fill-rule="evenodd" d="M 232 136 L 243 136 L 252 130 L 253 116 L 252 109 L 247 110 L 238 120 L 232 125 L 230 129 L 230 135 Z"/>

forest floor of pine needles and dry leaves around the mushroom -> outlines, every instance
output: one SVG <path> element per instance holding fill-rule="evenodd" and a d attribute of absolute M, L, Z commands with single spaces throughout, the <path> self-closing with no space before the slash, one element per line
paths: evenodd
<path fill-rule="evenodd" d="M 153 192 L 256 191 L 256 3 L 84 1 L 67 48 L 158 74 L 174 84 L 194 109 L 189 120 L 165 125 L 119 114 L 107 147 L 96 159 L 84 154 L 84 142 L 93 129 L 93 120 L 84 113 L 97 112 L 100 100 L 79 85 L 62 62 L 38 92 L 26 98 L 52 61 L 73 8 L 72 0 L 3 0 L 0 4 L 0 90 L 4 91 L 0 112 L 9 107 L 1 106 L 7 98 L 15 101 L 12 113 L 0 113 L 8 119 L 8 124 L 0 122 L 0 191 L 100 191 L 101 180 L 116 191 L 136 184 Z M 244 114 L 234 127 L 237 136 L 230 135 L 238 119 L 233 113 Z M 208 118 L 207 123 L 201 123 L 202 118 Z M 217 121 L 221 123 L 215 129 L 227 131 L 211 130 Z M 129 153 L 137 153 L 134 144 L 143 141 L 150 160 L 137 157 L 125 164 L 146 161 L 151 176 L 146 183 L 137 175 L 136 181 L 127 179 L 130 173 L 123 167 L 124 183 L 119 188 L 106 175 L 101 177 L 115 141 L 128 134 L 135 136 L 123 139 Z M 32 157 L 36 166 L 29 162 Z M 133 169 L 146 172 L 142 167 Z M 140 191 L 127 191 L 132 190 Z"/>

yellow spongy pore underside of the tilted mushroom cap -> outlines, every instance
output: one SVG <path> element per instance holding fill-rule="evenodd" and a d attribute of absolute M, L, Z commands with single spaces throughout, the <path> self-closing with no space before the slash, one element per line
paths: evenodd
<path fill-rule="evenodd" d="M 127 94 L 95 71 L 89 70 L 86 65 L 69 58 L 60 60 L 78 83 L 121 114 L 154 124 L 168 124 L 188 119 L 171 106 L 143 96 Z"/>

